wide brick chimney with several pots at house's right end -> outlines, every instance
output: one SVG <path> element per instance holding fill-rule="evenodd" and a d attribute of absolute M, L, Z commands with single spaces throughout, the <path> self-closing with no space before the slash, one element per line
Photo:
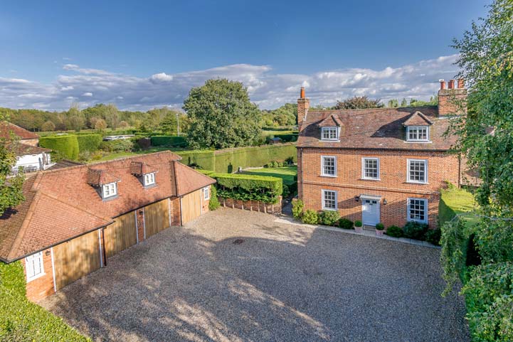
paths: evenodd
<path fill-rule="evenodd" d="M 458 80 L 458 88 L 454 87 L 454 80 L 449 80 L 448 89 L 445 89 L 445 81 L 440 80 L 438 90 L 438 116 L 460 115 L 467 112 L 467 90 L 462 78 Z"/>

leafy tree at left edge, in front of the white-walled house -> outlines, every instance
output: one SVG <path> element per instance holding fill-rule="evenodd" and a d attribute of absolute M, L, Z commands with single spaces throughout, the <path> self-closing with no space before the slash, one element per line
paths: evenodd
<path fill-rule="evenodd" d="M 6 121 L 8 118 L 6 114 L 0 113 L 0 122 Z M 14 137 L 0 138 L 0 216 L 4 215 L 7 209 L 13 208 L 25 200 L 22 191 L 23 173 L 7 178 L 16 164 L 15 146 L 17 143 L 18 141 Z"/>

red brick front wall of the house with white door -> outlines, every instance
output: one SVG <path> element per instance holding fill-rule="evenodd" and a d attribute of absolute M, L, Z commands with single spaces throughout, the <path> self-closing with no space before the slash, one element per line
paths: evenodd
<path fill-rule="evenodd" d="M 298 149 L 298 193 L 305 208 L 322 210 L 321 190 L 337 191 L 339 212 L 350 220 L 361 220 L 361 201 L 356 202 L 355 196 L 362 194 L 381 196 L 381 221 L 386 226 L 406 223 L 408 198 L 428 198 L 428 223 L 435 228 L 440 188 L 445 181 L 459 182 L 458 157 L 443 152 L 302 148 L 300 154 Z M 321 176 L 321 156 L 337 157 L 337 177 Z M 380 181 L 361 179 L 362 157 L 379 158 Z M 407 159 L 428 161 L 427 184 L 406 181 Z"/>

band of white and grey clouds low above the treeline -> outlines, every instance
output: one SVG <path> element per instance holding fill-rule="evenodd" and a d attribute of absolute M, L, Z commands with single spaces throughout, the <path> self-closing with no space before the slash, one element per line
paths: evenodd
<path fill-rule="evenodd" d="M 251 100 L 263 109 L 295 102 L 302 86 L 312 105 L 332 105 L 354 95 L 384 101 L 403 97 L 428 100 L 438 90 L 438 79 L 450 79 L 458 73 L 453 65 L 456 57 L 442 56 L 382 70 L 351 68 L 313 74 L 280 74 L 268 65 L 235 64 L 172 75 L 157 73 L 147 78 L 65 64 L 63 75 L 57 75 L 50 84 L 0 77 L 0 103 L 2 107 L 62 110 L 69 107 L 70 100 L 84 101 L 86 97 L 87 101 L 79 101 L 81 107 L 100 102 L 114 102 L 120 109 L 181 107 L 191 87 L 211 78 L 243 82 Z"/>

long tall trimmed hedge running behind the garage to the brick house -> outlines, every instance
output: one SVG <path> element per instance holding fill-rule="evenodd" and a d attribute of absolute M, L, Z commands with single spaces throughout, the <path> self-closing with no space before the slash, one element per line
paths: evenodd
<path fill-rule="evenodd" d="M 218 151 L 194 150 L 174 151 L 183 159 L 182 163 L 197 166 L 201 169 L 216 172 L 233 173 L 238 167 L 260 167 L 270 161 L 297 161 L 296 145 L 275 144 L 264 146 L 239 147 L 236 149 L 221 149 Z"/>

